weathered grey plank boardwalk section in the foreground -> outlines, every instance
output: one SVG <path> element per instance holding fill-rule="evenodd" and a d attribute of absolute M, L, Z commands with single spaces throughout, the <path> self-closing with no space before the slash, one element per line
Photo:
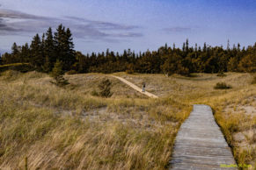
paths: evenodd
<path fill-rule="evenodd" d="M 237 165 L 211 108 L 195 104 L 175 139 L 170 169 L 237 169 L 223 164 Z"/>

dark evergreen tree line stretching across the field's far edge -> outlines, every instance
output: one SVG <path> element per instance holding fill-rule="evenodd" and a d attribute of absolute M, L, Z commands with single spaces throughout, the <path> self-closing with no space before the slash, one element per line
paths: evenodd
<path fill-rule="evenodd" d="M 29 63 L 37 71 L 49 73 L 56 62 L 62 63 L 64 72 L 72 73 L 145 73 L 145 74 L 183 74 L 255 72 L 256 43 L 254 46 L 230 47 L 189 46 L 188 39 L 182 48 L 161 46 L 157 51 L 135 53 L 130 49 L 114 53 L 109 49 L 103 53 L 87 53 L 74 50 L 69 28 L 59 25 L 56 32 L 51 27 L 40 37 L 36 34 L 30 45 L 11 47 L 11 53 L 1 56 L 1 64 Z"/>

